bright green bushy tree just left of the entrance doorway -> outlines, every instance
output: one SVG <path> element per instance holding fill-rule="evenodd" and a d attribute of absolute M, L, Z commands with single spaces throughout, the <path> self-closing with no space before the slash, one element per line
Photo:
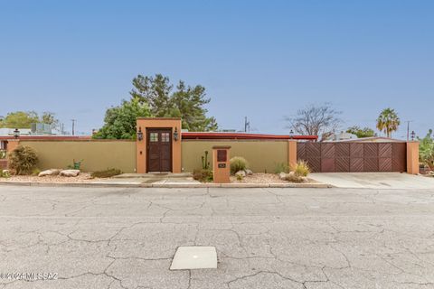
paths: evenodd
<path fill-rule="evenodd" d="M 104 126 L 93 138 L 135 139 L 137 117 L 151 117 L 148 105 L 138 98 L 123 100 L 120 106 L 106 111 Z"/>

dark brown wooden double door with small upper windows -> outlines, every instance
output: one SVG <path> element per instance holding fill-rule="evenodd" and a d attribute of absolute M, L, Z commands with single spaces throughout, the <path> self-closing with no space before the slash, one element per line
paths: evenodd
<path fill-rule="evenodd" d="M 172 130 L 147 129 L 146 172 L 172 172 Z"/>

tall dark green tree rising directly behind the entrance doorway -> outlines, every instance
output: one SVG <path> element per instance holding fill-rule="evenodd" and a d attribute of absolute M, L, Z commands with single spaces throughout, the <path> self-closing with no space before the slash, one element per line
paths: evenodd
<path fill-rule="evenodd" d="M 174 90 L 167 77 L 138 75 L 133 79 L 134 89 L 130 94 L 141 103 L 146 103 L 153 117 L 181 117 L 183 128 L 190 131 L 212 131 L 217 129 L 214 117 L 206 117 L 204 108 L 211 99 L 205 98 L 205 88 L 200 85 L 186 86 L 179 81 Z"/>

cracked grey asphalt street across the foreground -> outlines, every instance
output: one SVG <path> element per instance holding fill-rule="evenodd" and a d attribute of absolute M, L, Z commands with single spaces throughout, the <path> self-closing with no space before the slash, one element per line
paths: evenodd
<path fill-rule="evenodd" d="M 0 273 L 58 273 L 7 289 L 434 288 L 433 190 L 0 186 L 0 228 Z"/>

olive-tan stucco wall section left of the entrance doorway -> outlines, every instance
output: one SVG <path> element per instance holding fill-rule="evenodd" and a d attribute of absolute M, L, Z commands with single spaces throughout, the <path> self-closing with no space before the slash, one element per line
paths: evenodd
<path fill-rule="evenodd" d="M 89 141 L 21 141 L 36 150 L 38 168 L 66 168 L 76 161 L 83 160 L 83 172 L 95 172 L 116 168 L 122 172 L 135 172 L 136 142 L 129 140 L 89 140 Z"/>

